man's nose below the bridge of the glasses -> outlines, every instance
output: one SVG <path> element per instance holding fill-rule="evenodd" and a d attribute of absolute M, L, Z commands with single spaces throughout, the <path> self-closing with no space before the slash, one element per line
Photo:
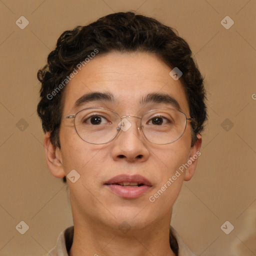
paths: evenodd
<path fill-rule="evenodd" d="M 149 156 L 148 142 L 140 130 L 140 119 L 135 116 L 123 116 L 119 123 L 120 131 L 112 142 L 114 160 L 142 162 Z"/>

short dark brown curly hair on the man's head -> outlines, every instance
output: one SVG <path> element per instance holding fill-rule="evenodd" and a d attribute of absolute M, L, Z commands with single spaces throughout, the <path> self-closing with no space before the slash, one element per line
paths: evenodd
<path fill-rule="evenodd" d="M 60 148 L 59 127 L 62 115 L 61 96 L 64 88 L 49 99 L 50 93 L 68 76 L 77 63 L 97 49 L 99 53 L 152 52 L 171 68 L 182 71 L 180 81 L 193 117 L 191 146 L 206 119 L 203 78 L 191 56 L 187 42 L 171 27 L 154 18 L 133 12 L 118 12 L 99 18 L 86 26 L 64 31 L 47 58 L 47 64 L 37 72 L 41 82 L 37 113 L 44 132 L 50 131 L 50 141 Z"/>

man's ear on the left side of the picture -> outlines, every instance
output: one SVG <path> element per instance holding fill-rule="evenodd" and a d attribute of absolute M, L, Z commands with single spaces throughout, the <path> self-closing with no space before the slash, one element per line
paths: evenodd
<path fill-rule="evenodd" d="M 46 155 L 47 165 L 51 174 L 57 178 L 64 177 L 65 172 L 63 170 L 60 149 L 58 147 L 55 147 L 50 142 L 50 132 L 47 132 L 45 134 L 45 137 L 43 140 L 43 146 L 44 146 L 44 151 Z"/>

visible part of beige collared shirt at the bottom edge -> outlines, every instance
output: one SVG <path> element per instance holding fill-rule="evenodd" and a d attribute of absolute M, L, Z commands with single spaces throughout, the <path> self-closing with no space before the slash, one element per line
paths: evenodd
<path fill-rule="evenodd" d="M 68 256 L 68 251 L 73 242 L 73 226 L 64 229 L 57 238 L 56 246 L 49 251 L 50 256 Z M 170 226 L 169 232 L 170 247 L 176 256 L 196 256 L 184 243 L 177 231 Z M 46 256 L 46 255 L 45 255 Z"/>

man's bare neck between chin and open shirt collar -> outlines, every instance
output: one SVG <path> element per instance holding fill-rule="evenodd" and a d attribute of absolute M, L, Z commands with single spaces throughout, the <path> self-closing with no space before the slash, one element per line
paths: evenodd
<path fill-rule="evenodd" d="M 122 232 L 98 223 L 77 222 L 69 256 L 175 256 L 169 243 L 169 223 L 158 221 Z"/>

